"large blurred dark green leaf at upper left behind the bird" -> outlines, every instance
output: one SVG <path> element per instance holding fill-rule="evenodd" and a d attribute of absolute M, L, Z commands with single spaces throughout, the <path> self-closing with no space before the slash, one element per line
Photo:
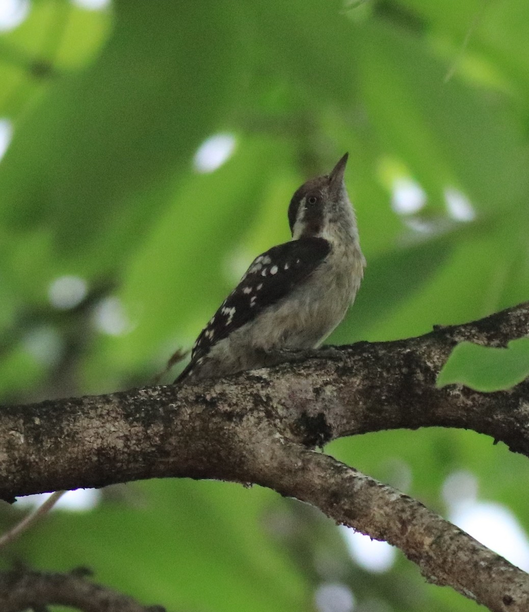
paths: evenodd
<path fill-rule="evenodd" d="M 231 12 L 218 3 L 114 6 L 100 55 L 57 77 L 0 165 L 1 225 L 24 239 L 45 228 L 46 258 L 85 274 L 113 271 L 134 250 L 167 204 L 141 196 L 187 172 L 239 75 Z"/>

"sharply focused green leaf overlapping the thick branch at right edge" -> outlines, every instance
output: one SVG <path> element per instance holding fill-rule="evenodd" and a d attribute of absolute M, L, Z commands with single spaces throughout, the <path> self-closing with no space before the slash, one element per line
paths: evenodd
<path fill-rule="evenodd" d="M 507 348 L 472 342 L 457 345 L 437 376 L 437 387 L 464 384 L 476 391 L 510 389 L 529 376 L 529 338 L 511 340 Z"/>

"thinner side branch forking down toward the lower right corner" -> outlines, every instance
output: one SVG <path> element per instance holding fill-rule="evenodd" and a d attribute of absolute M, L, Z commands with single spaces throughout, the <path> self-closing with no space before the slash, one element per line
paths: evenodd
<path fill-rule="evenodd" d="M 276 449 L 277 450 L 277 449 Z M 426 579 L 498 612 L 527 611 L 529 576 L 423 504 L 332 457 L 285 443 L 261 484 L 399 547 Z M 277 464 L 276 464 L 277 465 Z"/>

